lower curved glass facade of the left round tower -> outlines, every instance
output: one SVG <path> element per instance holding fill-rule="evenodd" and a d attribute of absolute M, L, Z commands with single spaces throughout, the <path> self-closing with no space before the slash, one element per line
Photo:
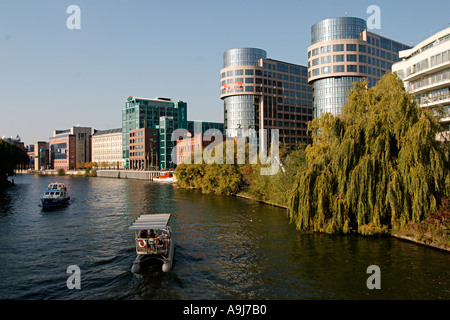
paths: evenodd
<path fill-rule="evenodd" d="M 244 135 L 249 128 L 255 128 L 253 95 L 236 95 L 224 99 L 225 129 L 228 137 L 237 137 L 238 129 Z"/>

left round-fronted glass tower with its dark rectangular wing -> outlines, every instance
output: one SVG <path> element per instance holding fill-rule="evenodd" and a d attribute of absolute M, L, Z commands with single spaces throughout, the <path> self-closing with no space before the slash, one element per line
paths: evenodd
<path fill-rule="evenodd" d="M 223 54 L 220 98 L 227 137 L 254 137 L 260 129 L 279 129 L 280 142 L 310 142 L 312 87 L 304 66 L 267 58 L 258 48 Z"/>

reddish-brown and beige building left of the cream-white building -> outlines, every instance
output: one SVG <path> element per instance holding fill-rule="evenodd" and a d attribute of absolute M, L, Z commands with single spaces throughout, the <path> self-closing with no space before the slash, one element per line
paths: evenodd
<path fill-rule="evenodd" d="M 92 128 L 78 126 L 53 131 L 49 138 L 51 167 L 74 170 L 78 164 L 91 162 L 91 132 Z"/>

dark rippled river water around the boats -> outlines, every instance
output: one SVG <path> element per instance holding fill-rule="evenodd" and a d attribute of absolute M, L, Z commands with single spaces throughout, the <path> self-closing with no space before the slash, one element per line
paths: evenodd
<path fill-rule="evenodd" d="M 154 182 L 18 175 L 0 191 L 0 299 L 450 299 L 450 254 L 390 237 L 303 234 L 285 210 Z M 63 182 L 67 207 L 39 197 Z M 172 213 L 175 262 L 130 272 L 140 214 Z M 67 268 L 80 268 L 69 289 Z M 370 290 L 367 268 L 379 267 Z"/>

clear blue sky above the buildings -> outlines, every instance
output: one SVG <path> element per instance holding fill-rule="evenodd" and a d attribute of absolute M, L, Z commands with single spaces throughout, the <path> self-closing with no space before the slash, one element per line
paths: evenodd
<path fill-rule="evenodd" d="M 81 29 L 66 25 L 70 5 Z M 128 96 L 188 103 L 188 119 L 223 121 L 223 52 L 256 47 L 306 65 L 311 26 L 322 19 L 368 19 L 418 44 L 449 26 L 448 0 L 0 0 L 0 137 L 48 141 L 79 124 L 121 127 Z"/>

